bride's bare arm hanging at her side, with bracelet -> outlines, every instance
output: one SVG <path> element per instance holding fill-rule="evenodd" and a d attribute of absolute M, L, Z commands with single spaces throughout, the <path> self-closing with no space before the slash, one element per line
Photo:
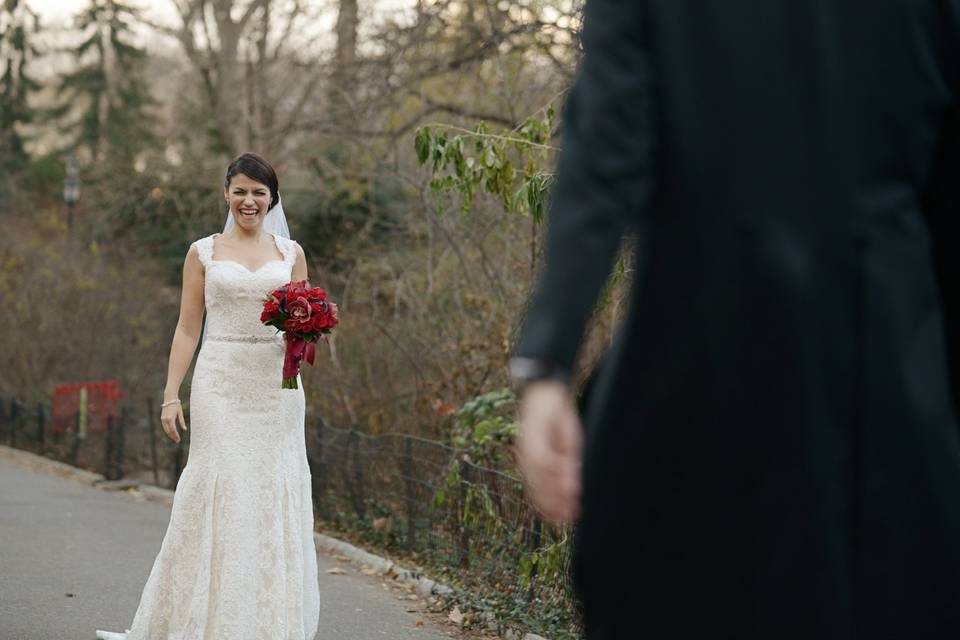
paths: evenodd
<path fill-rule="evenodd" d="M 203 266 L 197 255 L 196 246 L 191 246 L 183 261 L 183 289 L 180 293 L 180 318 L 173 333 L 170 346 L 170 362 L 167 366 L 167 385 L 163 391 L 163 401 L 176 400 L 180 396 L 180 384 L 190 368 L 193 354 L 200 340 L 200 328 L 203 323 Z M 183 412 L 179 404 L 170 404 L 161 411 L 163 429 L 175 442 L 180 441 L 175 421 L 186 430 Z"/>

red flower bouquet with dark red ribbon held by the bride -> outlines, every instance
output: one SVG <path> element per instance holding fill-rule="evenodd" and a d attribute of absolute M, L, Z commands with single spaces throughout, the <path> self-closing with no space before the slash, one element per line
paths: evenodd
<path fill-rule="evenodd" d="M 288 282 L 267 294 L 260 322 L 283 331 L 287 343 L 281 389 L 298 388 L 300 361 L 313 364 L 317 340 L 326 341 L 339 321 L 337 305 L 327 302 L 327 292 L 310 287 L 306 280 Z"/>

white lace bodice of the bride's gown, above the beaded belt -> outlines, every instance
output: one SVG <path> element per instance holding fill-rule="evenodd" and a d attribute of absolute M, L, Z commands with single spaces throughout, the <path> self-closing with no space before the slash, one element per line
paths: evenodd
<path fill-rule="evenodd" d="M 273 236 L 283 260 L 270 260 L 251 271 L 233 260 L 213 259 L 213 235 L 200 238 L 197 247 L 204 269 L 204 306 L 207 339 L 269 339 L 277 330 L 260 322 L 264 296 L 289 282 L 296 260 L 293 240 Z"/>

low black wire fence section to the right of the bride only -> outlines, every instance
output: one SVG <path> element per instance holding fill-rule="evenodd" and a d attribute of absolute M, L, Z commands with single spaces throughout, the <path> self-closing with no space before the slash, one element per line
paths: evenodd
<path fill-rule="evenodd" d="M 416 436 L 319 419 L 310 450 L 317 516 L 479 594 L 478 609 L 576 628 L 567 531 L 545 524 L 516 476 Z"/>

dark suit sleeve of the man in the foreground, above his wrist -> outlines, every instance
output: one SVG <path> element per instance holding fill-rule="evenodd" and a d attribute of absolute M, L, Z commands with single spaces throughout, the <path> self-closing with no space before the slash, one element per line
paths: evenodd
<path fill-rule="evenodd" d="M 645 14 L 641 0 L 588 0 L 584 9 L 584 56 L 564 110 L 546 264 L 516 349 L 568 373 L 623 234 L 654 187 Z"/>

